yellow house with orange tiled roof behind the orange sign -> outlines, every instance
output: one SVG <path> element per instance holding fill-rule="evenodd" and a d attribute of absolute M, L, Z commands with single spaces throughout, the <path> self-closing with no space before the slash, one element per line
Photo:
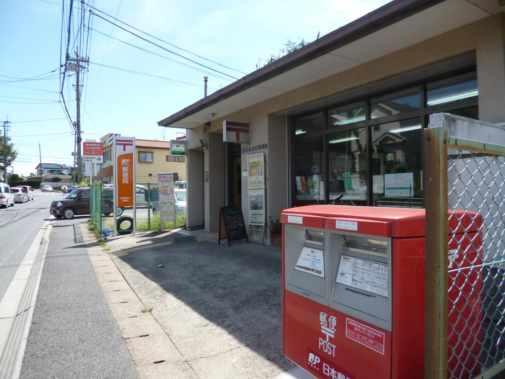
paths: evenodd
<path fill-rule="evenodd" d="M 107 134 L 100 138 L 104 146 L 104 164 L 98 172 L 98 179 L 114 182 L 114 159 L 112 153 L 112 136 Z M 176 180 L 186 180 L 186 157 L 170 155 L 170 142 L 153 139 L 135 139 L 135 182 L 156 183 L 159 172 L 173 172 Z"/>

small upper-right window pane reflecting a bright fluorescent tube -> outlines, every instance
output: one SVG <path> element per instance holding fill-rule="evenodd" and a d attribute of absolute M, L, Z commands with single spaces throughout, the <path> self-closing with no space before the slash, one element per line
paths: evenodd
<path fill-rule="evenodd" d="M 426 89 L 428 107 L 474 98 L 479 94 L 475 72 L 428 83 Z"/>

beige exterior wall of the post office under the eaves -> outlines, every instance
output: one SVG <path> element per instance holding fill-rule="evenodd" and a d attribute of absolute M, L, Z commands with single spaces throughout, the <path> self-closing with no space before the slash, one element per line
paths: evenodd
<path fill-rule="evenodd" d="M 190 149 L 199 148 L 200 138 L 207 138 L 209 144 L 211 138 L 208 136 L 214 135 L 214 133 L 222 138 L 218 133 L 221 133 L 223 119 L 249 123 L 250 144 L 242 145 L 242 147 L 268 143 L 268 149 L 258 152 L 265 153 L 267 217 L 271 215 L 275 219 L 278 217 L 278 209 L 287 206 L 288 162 L 286 118 L 273 115 L 402 73 L 419 70 L 453 57 L 475 52 L 479 86 L 479 117 L 487 122 L 505 122 L 505 107 L 503 107 L 505 104 L 504 41 L 505 15 L 488 17 L 242 109 L 225 118 L 216 119 L 212 121 L 207 133 L 204 133 L 203 126 L 188 131 L 188 147 Z M 211 178 L 215 178 L 214 175 L 217 174 L 221 180 L 224 172 L 224 160 L 217 157 L 218 155 L 223 157 L 223 149 L 222 147 L 215 149 L 217 142 L 214 140 L 209 144 L 210 150 L 206 151 L 205 169 L 212 170 L 210 172 Z M 222 143 L 219 145 L 222 146 Z M 213 160 L 214 154 L 217 155 Z M 246 170 L 247 154 L 242 154 L 242 171 Z M 220 172 L 214 172 L 214 170 Z M 213 228 L 215 224 L 211 223 L 209 208 L 218 208 L 223 206 L 225 202 L 222 193 L 220 193 L 223 180 L 217 183 L 218 191 L 213 191 L 213 182 L 210 180 L 204 188 L 207 230 L 217 230 L 217 225 Z M 249 216 L 247 198 L 247 180 L 242 178 L 242 209 L 246 223 Z M 189 201 L 191 200 L 189 199 Z"/>

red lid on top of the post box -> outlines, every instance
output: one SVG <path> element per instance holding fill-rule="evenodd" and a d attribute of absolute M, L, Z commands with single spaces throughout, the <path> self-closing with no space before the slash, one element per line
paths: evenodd
<path fill-rule="evenodd" d="M 362 219 L 388 222 L 391 237 L 421 237 L 426 235 L 426 212 L 419 208 L 360 207 L 350 205 L 307 205 L 289 208 L 282 214 L 312 215 L 324 218 Z M 476 231 L 482 226 L 482 217 L 475 212 L 449 211 L 451 233 Z M 281 222 L 286 222 L 281 217 Z M 379 232 L 377 235 L 384 235 Z"/>

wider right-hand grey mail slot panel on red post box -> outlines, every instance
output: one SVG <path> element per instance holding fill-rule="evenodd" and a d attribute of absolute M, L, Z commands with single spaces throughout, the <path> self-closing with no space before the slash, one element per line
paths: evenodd
<path fill-rule="evenodd" d="M 388 239 L 331 233 L 330 246 L 330 307 L 391 330 Z"/>

